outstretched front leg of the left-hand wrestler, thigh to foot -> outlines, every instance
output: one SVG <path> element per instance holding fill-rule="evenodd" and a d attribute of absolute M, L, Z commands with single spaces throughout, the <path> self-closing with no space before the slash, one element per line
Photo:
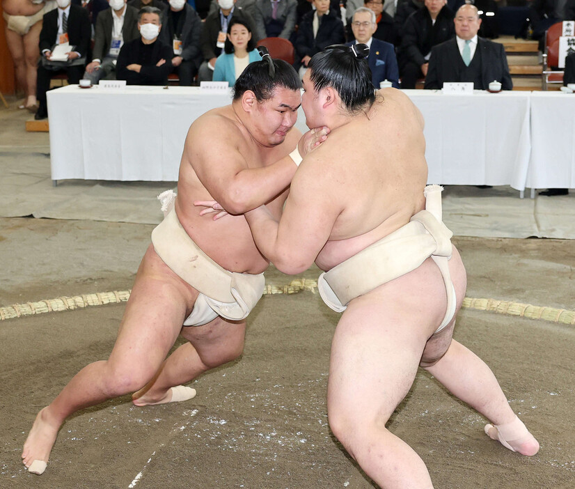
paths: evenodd
<path fill-rule="evenodd" d="M 38 413 L 24 444 L 24 465 L 48 460 L 59 428 L 73 412 L 137 391 L 150 382 L 180 334 L 197 295 L 150 246 L 109 359 L 84 367 Z"/>

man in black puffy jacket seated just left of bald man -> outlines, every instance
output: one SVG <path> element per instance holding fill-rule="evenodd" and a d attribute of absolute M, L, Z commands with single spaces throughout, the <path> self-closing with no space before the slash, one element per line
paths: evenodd
<path fill-rule="evenodd" d="M 453 17 L 446 0 L 425 0 L 425 6 L 407 18 L 397 60 L 401 88 L 416 88 L 416 81 L 425 78 L 432 47 L 455 36 Z"/>

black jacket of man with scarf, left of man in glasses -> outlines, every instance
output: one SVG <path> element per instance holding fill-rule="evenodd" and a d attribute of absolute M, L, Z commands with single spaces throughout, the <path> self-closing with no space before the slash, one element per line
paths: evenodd
<path fill-rule="evenodd" d="M 343 44 L 345 42 L 343 22 L 333 10 L 329 11 L 329 15 L 322 16 L 320 28 L 317 29 L 317 36 L 314 39 L 313 15 L 315 15 L 315 10 L 306 13 L 297 29 L 295 41 L 295 49 L 299 56 L 299 59 L 296 59 L 297 62 L 304 56 L 313 56 L 332 44 Z"/>

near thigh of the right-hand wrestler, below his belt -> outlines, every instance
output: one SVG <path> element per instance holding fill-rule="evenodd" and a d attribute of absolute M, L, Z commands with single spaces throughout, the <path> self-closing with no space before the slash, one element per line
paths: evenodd
<path fill-rule="evenodd" d="M 359 429 L 386 423 L 409 391 L 427 341 L 417 314 L 397 311 L 392 297 L 372 294 L 349 304 L 331 345 L 330 422 Z"/>

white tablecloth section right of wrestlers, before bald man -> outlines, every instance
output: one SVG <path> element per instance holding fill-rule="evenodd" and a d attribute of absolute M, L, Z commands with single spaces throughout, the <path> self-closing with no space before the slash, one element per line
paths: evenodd
<path fill-rule="evenodd" d="M 528 92 L 404 92 L 425 119 L 429 183 L 525 189 L 530 153 Z"/>

